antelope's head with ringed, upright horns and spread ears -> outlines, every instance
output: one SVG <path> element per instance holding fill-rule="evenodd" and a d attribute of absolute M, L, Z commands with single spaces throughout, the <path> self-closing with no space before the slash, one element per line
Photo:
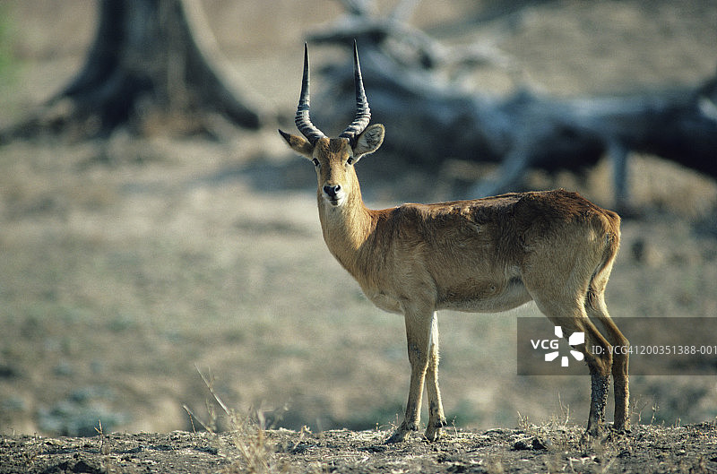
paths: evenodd
<path fill-rule="evenodd" d="M 317 194 L 320 199 L 324 199 L 324 203 L 333 207 L 340 207 L 352 198 L 360 198 L 358 177 L 353 165 L 364 155 L 378 150 L 384 142 L 384 125 L 368 126 L 371 110 L 368 108 L 368 99 L 361 79 L 356 42 L 353 50 L 353 68 L 356 116 L 338 138 L 328 138 L 311 123 L 309 118 L 308 48 L 305 44 L 304 78 L 301 83 L 301 96 L 298 99 L 297 116 L 294 120 L 298 131 L 304 137 L 279 131 L 292 150 L 314 162 L 318 179 Z"/>

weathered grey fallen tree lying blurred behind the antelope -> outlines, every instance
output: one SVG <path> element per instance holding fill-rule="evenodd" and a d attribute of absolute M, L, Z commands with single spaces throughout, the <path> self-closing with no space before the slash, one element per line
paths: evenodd
<path fill-rule="evenodd" d="M 579 171 L 608 154 L 616 201 L 624 204 L 630 151 L 717 177 L 717 75 L 694 88 L 622 97 L 556 99 L 518 81 L 518 91 L 508 97 L 480 95 L 462 90 L 446 70 L 487 63 L 511 70 L 510 58 L 494 48 L 471 62 L 448 53 L 405 17 L 383 20 L 370 11 L 347 15 L 312 39 L 347 46 L 358 39 L 373 120 L 391 125 L 384 147 L 434 169 L 446 159 L 500 162 L 495 177 L 472 186 L 475 196 L 520 187 L 530 168 Z M 335 86 L 317 97 L 331 104 L 316 108 L 317 120 L 341 124 L 352 113 L 350 65 L 323 73 Z"/>

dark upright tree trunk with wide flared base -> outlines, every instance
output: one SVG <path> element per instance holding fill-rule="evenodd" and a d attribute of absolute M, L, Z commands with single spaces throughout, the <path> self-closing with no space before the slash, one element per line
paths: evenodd
<path fill-rule="evenodd" d="M 11 134 L 108 136 L 121 125 L 212 134 L 218 114 L 258 128 L 272 112 L 238 84 L 199 0 L 101 0 L 82 71 Z"/>

